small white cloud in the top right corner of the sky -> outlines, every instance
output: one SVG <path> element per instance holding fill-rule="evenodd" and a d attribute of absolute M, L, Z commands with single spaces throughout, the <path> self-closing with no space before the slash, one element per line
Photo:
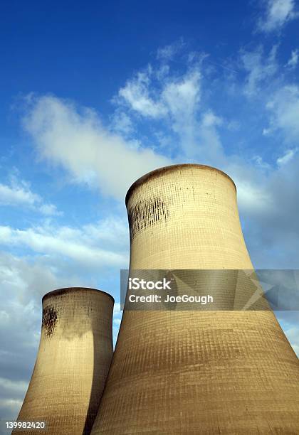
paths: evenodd
<path fill-rule="evenodd" d="M 267 0 L 265 14 L 258 20 L 258 29 L 263 32 L 278 31 L 295 18 L 298 18 L 295 0 Z"/>

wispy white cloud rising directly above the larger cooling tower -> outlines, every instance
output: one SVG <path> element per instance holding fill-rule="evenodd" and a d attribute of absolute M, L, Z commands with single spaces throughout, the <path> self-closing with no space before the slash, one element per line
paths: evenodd
<path fill-rule="evenodd" d="M 201 107 L 204 58 L 204 55 L 193 56 L 192 60 L 186 61 L 184 72 L 179 73 L 167 63 L 150 65 L 128 80 L 114 99 L 117 107 L 127 107 L 132 116 L 142 117 L 143 122 L 162 123 L 164 130 L 168 130 L 169 139 L 165 133 L 161 136 L 158 132 L 157 137 L 162 137 L 164 144 L 175 141 L 177 159 L 201 156 L 201 159 L 211 161 L 216 157 L 215 147 L 221 154 L 215 129 L 219 117 L 211 109 Z"/>

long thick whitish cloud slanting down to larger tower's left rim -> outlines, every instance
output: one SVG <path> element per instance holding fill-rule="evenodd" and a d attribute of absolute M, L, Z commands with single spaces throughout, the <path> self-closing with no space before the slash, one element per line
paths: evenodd
<path fill-rule="evenodd" d="M 111 134 L 91 109 L 50 96 L 31 97 L 30 103 L 24 125 L 38 154 L 63 166 L 75 182 L 123 199 L 136 178 L 171 163 L 152 149 L 136 149 Z"/>

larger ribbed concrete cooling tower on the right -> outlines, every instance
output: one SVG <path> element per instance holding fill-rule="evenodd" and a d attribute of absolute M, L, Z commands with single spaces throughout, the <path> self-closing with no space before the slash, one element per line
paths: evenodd
<path fill-rule="evenodd" d="M 127 212 L 131 269 L 253 268 L 215 168 L 153 171 Z M 299 434 L 298 358 L 271 311 L 124 311 L 98 434 Z"/>

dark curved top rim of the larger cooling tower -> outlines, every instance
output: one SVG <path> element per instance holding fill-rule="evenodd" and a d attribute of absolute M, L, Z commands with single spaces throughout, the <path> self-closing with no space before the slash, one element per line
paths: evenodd
<path fill-rule="evenodd" d="M 148 173 L 145 173 L 145 175 L 138 178 L 130 186 L 130 188 L 127 190 L 127 195 L 125 195 L 125 204 L 127 205 L 127 202 L 129 200 L 130 196 L 132 195 L 133 190 L 135 190 L 135 188 L 137 188 L 138 186 L 141 186 L 146 181 L 150 180 L 150 178 L 160 176 L 160 175 L 167 173 L 167 172 L 178 171 L 179 169 L 184 169 L 184 168 L 196 168 L 196 169 L 201 169 L 201 170 L 206 169 L 209 171 L 216 171 L 216 172 L 220 173 L 222 176 L 225 176 L 226 178 L 228 178 L 229 181 L 231 181 L 231 183 L 233 183 L 233 186 L 236 190 L 236 184 L 234 183 L 234 180 L 229 175 L 227 175 L 227 173 L 225 173 L 224 171 L 221 171 L 221 169 L 214 168 L 213 166 L 200 165 L 200 164 L 196 164 L 196 163 L 180 163 L 180 164 L 176 164 L 176 165 L 163 166 L 162 168 L 154 169 L 154 171 L 150 171 Z"/>

